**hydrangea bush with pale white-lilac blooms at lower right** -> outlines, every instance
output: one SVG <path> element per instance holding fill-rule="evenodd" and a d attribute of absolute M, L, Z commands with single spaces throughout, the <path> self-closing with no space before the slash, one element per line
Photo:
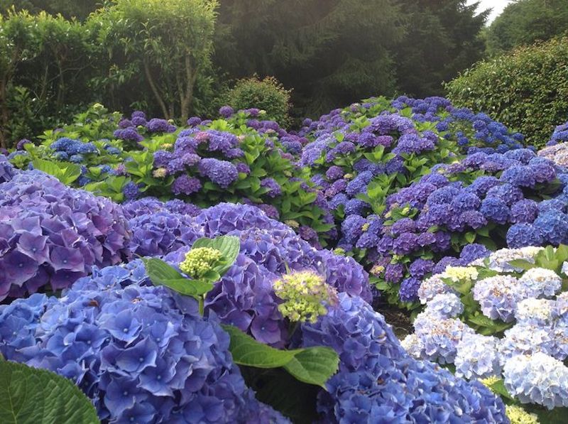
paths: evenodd
<path fill-rule="evenodd" d="M 568 411 L 567 259 L 567 246 L 525 247 L 446 268 L 420 286 L 426 309 L 403 344 L 417 358 L 454 364 L 457 376 L 501 381 L 508 403 L 528 403 L 537 415 L 554 410 L 542 422 L 560 422 Z"/>

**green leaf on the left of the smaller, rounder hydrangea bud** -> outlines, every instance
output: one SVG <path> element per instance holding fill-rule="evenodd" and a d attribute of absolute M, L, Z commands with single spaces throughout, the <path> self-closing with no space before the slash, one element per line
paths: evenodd
<path fill-rule="evenodd" d="M 185 278 L 173 266 L 156 258 L 142 258 L 146 272 L 154 286 L 166 286 L 182 295 L 200 296 L 213 288 L 210 281 Z"/>

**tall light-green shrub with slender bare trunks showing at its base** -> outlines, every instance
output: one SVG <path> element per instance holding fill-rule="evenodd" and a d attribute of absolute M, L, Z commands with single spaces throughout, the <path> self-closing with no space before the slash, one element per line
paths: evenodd
<path fill-rule="evenodd" d="M 197 78 L 211 68 L 216 9 L 216 0 L 116 0 L 94 13 L 115 75 L 106 82 L 132 82 L 163 117 L 185 121 Z"/>

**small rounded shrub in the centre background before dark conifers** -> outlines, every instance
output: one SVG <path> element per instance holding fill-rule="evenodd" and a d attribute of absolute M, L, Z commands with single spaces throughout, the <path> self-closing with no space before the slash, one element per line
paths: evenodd
<path fill-rule="evenodd" d="M 256 107 L 266 111 L 266 119 L 286 125 L 290 121 L 290 92 L 275 77 L 254 76 L 236 82 L 226 94 L 226 103 L 235 110 Z"/>

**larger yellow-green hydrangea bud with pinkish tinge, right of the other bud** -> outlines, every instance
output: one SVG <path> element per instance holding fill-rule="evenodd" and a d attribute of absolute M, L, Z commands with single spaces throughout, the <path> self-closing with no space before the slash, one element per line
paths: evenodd
<path fill-rule="evenodd" d="M 297 271 L 274 282 L 274 292 L 284 300 L 278 310 L 293 322 L 316 322 L 337 304 L 337 292 L 313 271 Z"/>

